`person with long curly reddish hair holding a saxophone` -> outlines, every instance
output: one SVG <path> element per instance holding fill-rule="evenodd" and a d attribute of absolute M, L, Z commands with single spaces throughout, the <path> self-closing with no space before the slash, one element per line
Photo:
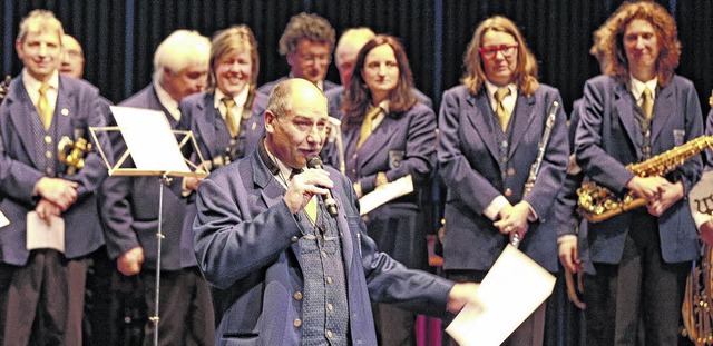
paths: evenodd
<path fill-rule="evenodd" d="M 690 80 L 673 73 L 681 42 L 663 7 L 624 3 L 604 26 L 609 66 L 585 85 L 576 160 L 588 179 L 617 196 L 633 192 L 646 206 L 583 224 L 580 241 L 594 266 L 584 276 L 587 340 L 675 345 L 675 312 L 700 249 L 685 196 L 701 176 L 701 158 L 665 176 L 639 177 L 626 165 L 701 136 L 699 97 Z"/>

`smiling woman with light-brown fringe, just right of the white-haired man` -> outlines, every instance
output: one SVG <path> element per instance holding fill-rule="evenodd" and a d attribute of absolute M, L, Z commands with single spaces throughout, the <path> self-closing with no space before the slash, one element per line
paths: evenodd
<path fill-rule="evenodd" d="M 193 131 L 197 150 L 185 152 L 193 162 L 211 171 L 248 156 L 265 134 L 263 113 L 267 97 L 256 91 L 260 58 L 257 41 L 247 26 L 235 26 L 215 34 L 211 48 L 211 70 L 206 92 L 194 93 L 180 102 L 180 127 Z M 227 109 L 224 100 L 233 100 Z M 232 111 L 237 134 L 229 130 Z M 201 161 L 203 159 L 203 161 Z M 192 231 L 195 191 L 201 179 L 186 178 L 177 188 L 188 197 L 184 231 Z"/>

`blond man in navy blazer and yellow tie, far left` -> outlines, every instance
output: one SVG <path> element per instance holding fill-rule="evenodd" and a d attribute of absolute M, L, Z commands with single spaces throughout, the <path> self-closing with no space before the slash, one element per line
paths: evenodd
<path fill-rule="evenodd" d="M 16 49 L 25 68 L 0 105 L 0 209 L 10 220 L 0 230 L 0 270 L 10 279 L 2 293 L 7 345 L 81 345 L 86 256 L 104 244 L 96 190 L 107 168 L 96 146 L 110 158 L 110 144 L 104 134 L 94 142 L 89 128 L 106 125 L 108 105 L 88 82 L 59 76 L 62 34 L 49 11 L 22 20 Z M 94 149 L 81 154 L 84 167 L 69 167 L 58 144 L 80 138 Z M 64 228 L 64 250 L 27 248 L 32 212 L 53 231 Z"/>

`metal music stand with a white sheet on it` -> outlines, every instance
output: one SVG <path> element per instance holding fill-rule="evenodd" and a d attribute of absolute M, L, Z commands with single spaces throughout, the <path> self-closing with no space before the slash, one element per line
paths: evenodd
<path fill-rule="evenodd" d="M 156 231 L 156 298 L 154 301 L 154 316 L 149 319 L 154 323 L 154 345 L 158 345 L 158 296 L 160 294 L 160 251 L 163 234 L 164 185 L 170 184 L 170 177 L 204 178 L 208 174 L 199 166 L 185 158 L 180 149 L 188 142 L 198 155 L 199 162 L 203 156 L 198 150 L 192 131 L 172 130 L 163 111 L 130 108 L 110 107 L 118 126 L 90 127 L 89 131 L 97 145 L 97 149 L 104 159 L 109 176 L 159 177 L 158 190 L 158 229 Z M 96 131 L 119 131 L 127 149 L 119 159 L 111 165 L 105 155 L 104 148 L 97 140 Z M 135 168 L 121 168 L 121 165 L 131 155 Z"/>

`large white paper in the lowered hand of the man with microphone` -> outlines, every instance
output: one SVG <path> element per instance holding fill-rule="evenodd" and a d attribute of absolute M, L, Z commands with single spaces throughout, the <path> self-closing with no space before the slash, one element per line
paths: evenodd
<path fill-rule="evenodd" d="M 477 296 L 482 306 L 466 306 L 446 332 L 461 346 L 500 345 L 555 288 L 555 277 L 508 245 Z"/>

